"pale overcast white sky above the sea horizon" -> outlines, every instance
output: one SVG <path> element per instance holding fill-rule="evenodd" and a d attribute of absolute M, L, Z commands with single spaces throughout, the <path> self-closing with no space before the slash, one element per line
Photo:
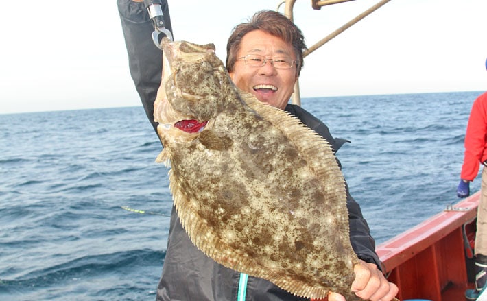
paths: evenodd
<path fill-rule="evenodd" d="M 313 10 L 294 21 L 310 47 L 379 0 Z M 214 43 L 278 0 L 169 0 L 176 40 Z M 117 3 L 3 1 L 0 113 L 140 106 Z M 282 11 L 282 10 L 281 10 Z M 486 0 L 391 0 L 305 60 L 301 97 L 487 90 Z M 147 36 L 150 38 L 150 36 Z"/>

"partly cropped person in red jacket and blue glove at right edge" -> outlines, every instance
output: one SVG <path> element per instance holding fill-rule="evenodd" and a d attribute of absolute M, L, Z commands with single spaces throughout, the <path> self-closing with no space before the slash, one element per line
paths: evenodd
<path fill-rule="evenodd" d="M 487 60 L 486 60 L 487 69 Z M 482 169 L 481 197 L 475 235 L 475 289 L 467 289 L 467 300 L 477 300 L 487 287 L 487 92 L 475 99 L 465 135 L 465 154 L 457 187 L 458 197 L 470 195 L 470 182 Z"/>

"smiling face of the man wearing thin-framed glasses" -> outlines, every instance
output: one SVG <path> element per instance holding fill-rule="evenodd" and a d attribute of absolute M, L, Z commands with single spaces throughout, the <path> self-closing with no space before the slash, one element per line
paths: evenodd
<path fill-rule="evenodd" d="M 230 77 L 239 88 L 252 93 L 260 101 L 284 109 L 298 79 L 296 63 L 289 69 L 276 69 L 270 61 L 266 61 L 262 67 L 252 67 L 244 59 L 238 59 L 248 54 L 259 54 L 266 59 L 288 57 L 296 61 L 292 46 L 261 30 L 249 32 L 241 40 L 237 62 L 233 72 L 230 72 Z"/>

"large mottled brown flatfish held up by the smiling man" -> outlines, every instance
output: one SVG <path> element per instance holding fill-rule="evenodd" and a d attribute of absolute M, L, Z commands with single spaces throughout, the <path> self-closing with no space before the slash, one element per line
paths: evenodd
<path fill-rule="evenodd" d="M 154 105 L 170 189 L 194 245 L 305 298 L 350 290 L 358 263 L 344 178 L 321 136 L 239 91 L 213 45 L 163 42 Z M 209 121 L 187 133 L 182 119 Z"/>

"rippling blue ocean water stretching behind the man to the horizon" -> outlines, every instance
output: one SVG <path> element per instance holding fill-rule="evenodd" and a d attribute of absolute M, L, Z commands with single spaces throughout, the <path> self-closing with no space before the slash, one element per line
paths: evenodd
<path fill-rule="evenodd" d="M 480 93 L 302 99 L 351 141 L 337 156 L 377 243 L 458 202 Z M 0 115 L 0 300 L 155 300 L 172 206 L 160 151 L 141 107 Z"/>

